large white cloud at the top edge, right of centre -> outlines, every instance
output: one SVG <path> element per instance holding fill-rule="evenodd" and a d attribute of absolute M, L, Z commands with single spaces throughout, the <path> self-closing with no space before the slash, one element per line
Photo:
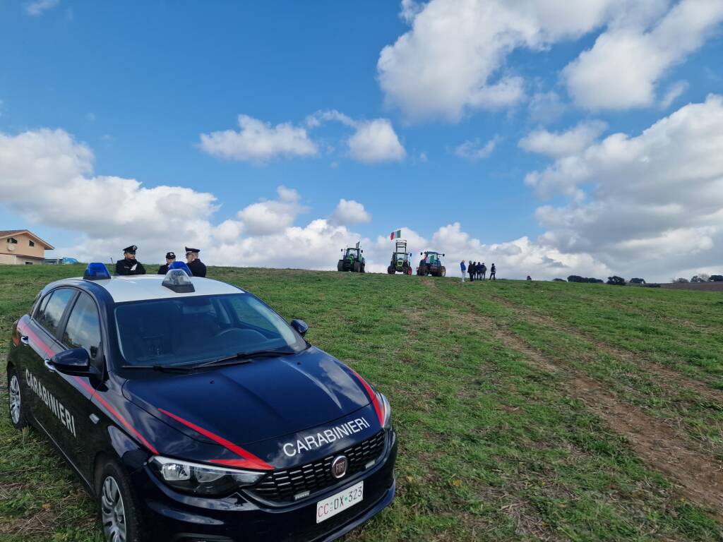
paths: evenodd
<path fill-rule="evenodd" d="M 456 121 L 475 109 L 518 103 L 523 80 L 505 71 L 516 48 L 539 51 L 607 22 L 619 0 L 404 1 L 411 30 L 382 49 L 377 72 L 386 102 L 408 119 Z"/>

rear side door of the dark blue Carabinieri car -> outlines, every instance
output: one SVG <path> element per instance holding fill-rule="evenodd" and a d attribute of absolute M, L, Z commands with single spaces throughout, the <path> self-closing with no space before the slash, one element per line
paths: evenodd
<path fill-rule="evenodd" d="M 61 447 L 61 431 L 72 430 L 72 420 L 68 420 L 61 409 L 56 395 L 57 383 L 55 371 L 50 359 L 62 348 L 57 334 L 64 322 L 69 304 L 77 291 L 74 288 L 56 288 L 40 301 L 38 310 L 22 327 L 21 341 L 25 347 L 25 379 L 30 387 L 30 408 L 33 418 L 48 436 Z M 62 425 L 61 425 L 62 420 Z M 62 448 L 61 448 L 62 449 Z M 65 452 L 64 449 L 62 449 Z"/>

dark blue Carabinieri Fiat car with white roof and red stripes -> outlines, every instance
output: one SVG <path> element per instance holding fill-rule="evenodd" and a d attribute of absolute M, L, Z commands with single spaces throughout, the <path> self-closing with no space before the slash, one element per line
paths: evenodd
<path fill-rule="evenodd" d="M 14 326 L 10 416 L 58 447 L 107 541 L 331 541 L 393 499 L 390 406 L 236 286 L 84 277 Z"/>

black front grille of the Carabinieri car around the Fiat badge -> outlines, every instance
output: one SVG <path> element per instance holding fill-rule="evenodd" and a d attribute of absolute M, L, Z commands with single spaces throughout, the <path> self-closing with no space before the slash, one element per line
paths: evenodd
<path fill-rule="evenodd" d="M 309 491 L 309 495 L 313 495 L 337 483 L 343 483 L 350 476 L 366 470 L 370 461 L 379 459 L 384 451 L 384 438 L 385 434 L 382 430 L 359 444 L 315 463 L 307 463 L 307 465 L 286 470 L 274 470 L 252 487 L 250 492 L 265 501 L 295 502 L 295 495 L 304 494 L 306 491 Z M 346 455 L 348 460 L 346 476 L 341 479 L 334 478 L 331 474 L 331 463 L 339 455 Z M 304 497 L 306 496 L 304 495 Z"/>

